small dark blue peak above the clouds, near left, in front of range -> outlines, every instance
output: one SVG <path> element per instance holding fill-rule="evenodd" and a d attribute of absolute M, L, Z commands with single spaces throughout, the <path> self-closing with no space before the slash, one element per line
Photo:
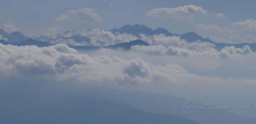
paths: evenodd
<path fill-rule="evenodd" d="M 28 39 L 28 40 L 22 41 L 18 45 L 19 46 L 36 45 L 38 47 L 47 47 L 47 46 L 51 46 L 52 44 L 45 43 L 45 42 L 42 42 L 42 41 L 33 40 L 33 39 Z"/>

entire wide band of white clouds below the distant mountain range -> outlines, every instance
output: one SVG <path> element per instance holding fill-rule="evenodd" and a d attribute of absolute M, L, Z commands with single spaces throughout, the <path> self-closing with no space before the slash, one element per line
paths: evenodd
<path fill-rule="evenodd" d="M 196 70 L 201 68 L 211 70 L 220 65 L 238 66 L 237 62 L 240 63 L 240 66 L 249 66 L 248 68 L 255 69 L 255 67 L 250 67 L 254 65 L 255 54 L 252 54 L 248 46 L 243 49 L 226 47 L 220 53 L 211 51 L 220 57 L 212 57 L 209 56 L 209 53 L 206 54 L 207 51 L 199 52 L 190 47 L 134 47 L 137 47 L 140 52 L 133 51 L 134 49 L 128 52 L 100 49 L 87 55 L 80 54 L 64 44 L 43 48 L 0 44 L 0 78 L 29 79 L 31 82 L 40 80 L 108 86 L 156 85 L 164 87 L 174 83 L 200 85 L 233 83 L 233 81 L 236 83 L 246 82 L 199 76 L 189 73 L 185 66 L 192 68 L 196 66 Z M 152 50 L 152 48 L 164 53 L 158 56 L 145 54 L 144 50 Z M 197 55 L 199 53 L 204 53 L 204 55 Z M 244 63 L 246 64 L 243 65 Z"/>

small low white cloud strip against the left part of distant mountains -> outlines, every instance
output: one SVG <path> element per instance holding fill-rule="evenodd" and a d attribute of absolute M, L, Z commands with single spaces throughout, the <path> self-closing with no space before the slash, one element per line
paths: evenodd
<path fill-rule="evenodd" d="M 64 38 L 57 38 L 50 41 L 51 44 L 66 44 L 66 45 L 73 45 L 73 46 L 89 46 L 90 44 L 83 41 L 83 42 L 76 42 L 73 39 L 64 39 Z"/>

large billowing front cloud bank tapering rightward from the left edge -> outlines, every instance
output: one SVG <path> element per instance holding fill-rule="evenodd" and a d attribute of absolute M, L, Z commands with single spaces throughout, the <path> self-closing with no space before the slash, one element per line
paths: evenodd
<path fill-rule="evenodd" d="M 117 51 L 116 51 L 117 52 Z M 174 83 L 195 78 L 182 66 L 159 65 L 140 58 L 78 54 L 67 45 L 39 48 L 0 44 L 0 77 L 95 84 Z"/>

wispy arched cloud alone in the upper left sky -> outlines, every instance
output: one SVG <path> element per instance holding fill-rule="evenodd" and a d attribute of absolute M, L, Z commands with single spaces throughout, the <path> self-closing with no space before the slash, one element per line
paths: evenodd
<path fill-rule="evenodd" d="M 101 19 L 101 17 L 94 12 L 94 9 L 90 8 L 81 8 L 79 10 L 70 10 L 66 14 L 59 15 L 55 20 L 68 20 L 68 19 L 83 19 L 90 18 L 95 21 L 107 21 Z"/>

